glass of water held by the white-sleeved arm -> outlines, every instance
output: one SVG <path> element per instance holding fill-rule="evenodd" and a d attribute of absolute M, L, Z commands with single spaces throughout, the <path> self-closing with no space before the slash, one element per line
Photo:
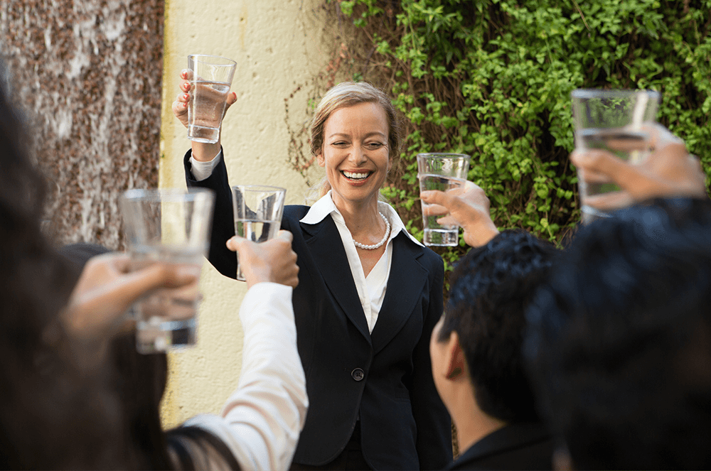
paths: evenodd
<path fill-rule="evenodd" d="M 284 197 L 287 190 L 267 185 L 235 185 L 232 187 L 232 209 L 235 234 L 252 242 L 273 239 L 282 227 Z M 237 260 L 237 279 L 245 281 Z"/>

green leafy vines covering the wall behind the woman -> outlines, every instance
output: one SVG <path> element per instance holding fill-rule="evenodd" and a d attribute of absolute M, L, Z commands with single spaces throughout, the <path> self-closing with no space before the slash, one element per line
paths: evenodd
<path fill-rule="evenodd" d="M 711 169 L 711 0 L 353 0 L 365 80 L 407 139 L 383 193 L 421 227 L 415 156 L 468 153 L 501 228 L 560 241 L 579 220 L 570 92 L 646 88 L 659 121 Z M 355 39 L 350 49 L 358 54 Z M 441 251 L 445 261 L 466 249 Z"/>

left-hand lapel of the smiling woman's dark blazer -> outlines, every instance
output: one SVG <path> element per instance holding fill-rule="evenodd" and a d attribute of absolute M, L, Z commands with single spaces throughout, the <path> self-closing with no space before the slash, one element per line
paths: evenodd
<path fill-rule="evenodd" d="M 343 249 L 341 234 L 336 223 L 328 216 L 319 224 L 301 222 L 301 230 L 311 238 L 305 238 L 311 255 L 314 257 L 316 269 L 321 271 L 324 283 L 331 291 L 333 298 L 346 313 L 348 319 L 358 328 L 363 337 L 370 342 L 368 323 L 365 320 L 363 306 L 360 305 L 358 291 L 348 264 L 346 249 Z"/>

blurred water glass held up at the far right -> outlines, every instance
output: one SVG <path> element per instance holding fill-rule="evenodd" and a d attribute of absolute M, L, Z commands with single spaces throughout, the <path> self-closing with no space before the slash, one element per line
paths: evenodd
<path fill-rule="evenodd" d="M 600 149 L 629 163 L 643 163 L 651 153 L 650 131 L 660 97 L 652 90 L 574 90 L 575 150 Z M 577 176 L 584 224 L 626 205 L 619 186 L 603 175 L 578 171 Z"/>

